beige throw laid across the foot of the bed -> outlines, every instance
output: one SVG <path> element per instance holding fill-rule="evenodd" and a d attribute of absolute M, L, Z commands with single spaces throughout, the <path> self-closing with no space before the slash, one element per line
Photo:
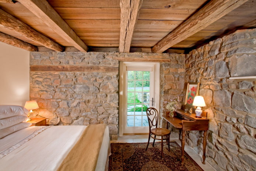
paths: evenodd
<path fill-rule="evenodd" d="M 57 171 L 94 171 L 106 124 L 88 125 Z"/>

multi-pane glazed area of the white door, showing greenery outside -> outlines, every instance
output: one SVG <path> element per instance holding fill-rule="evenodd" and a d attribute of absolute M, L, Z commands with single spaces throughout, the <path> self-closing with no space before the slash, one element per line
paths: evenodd
<path fill-rule="evenodd" d="M 150 103 L 149 78 L 148 71 L 128 71 L 127 127 L 148 127 L 146 110 Z"/>

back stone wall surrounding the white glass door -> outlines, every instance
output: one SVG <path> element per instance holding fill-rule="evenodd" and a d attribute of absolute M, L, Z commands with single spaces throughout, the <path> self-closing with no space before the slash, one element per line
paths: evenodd
<path fill-rule="evenodd" d="M 155 53 L 31 52 L 30 99 L 49 125 L 108 124 L 111 139 L 118 138 L 119 60 L 168 59 L 161 62 L 161 107 L 177 98 L 183 101 L 185 55 Z M 76 71 L 81 67 L 109 67 L 108 71 Z M 53 68 L 52 68 L 53 67 Z M 58 68 L 59 67 L 59 68 Z M 74 71 L 61 71 L 75 68 Z M 56 71 L 55 71 L 56 70 Z M 81 70 L 81 69 L 79 69 Z M 160 113 L 164 112 L 161 108 Z"/>

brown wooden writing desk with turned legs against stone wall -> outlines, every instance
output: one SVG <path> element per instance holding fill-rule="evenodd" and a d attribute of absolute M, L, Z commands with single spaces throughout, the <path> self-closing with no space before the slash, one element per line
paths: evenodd
<path fill-rule="evenodd" d="M 166 120 L 166 128 L 168 129 L 169 124 L 173 125 L 175 128 L 179 128 L 182 131 L 182 139 L 181 139 L 181 164 L 184 162 L 184 146 L 185 146 L 185 133 L 186 131 L 204 131 L 203 138 L 203 161 L 205 164 L 205 153 L 206 153 L 206 137 L 207 130 L 209 125 L 209 119 L 207 117 L 207 112 L 202 113 L 202 118 L 196 118 L 196 114 L 185 113 L 184 110 L 177 110 L 174 113 L 173 118 L 169 117 L 169 115 L 162 115 L 162 117 Z"/>

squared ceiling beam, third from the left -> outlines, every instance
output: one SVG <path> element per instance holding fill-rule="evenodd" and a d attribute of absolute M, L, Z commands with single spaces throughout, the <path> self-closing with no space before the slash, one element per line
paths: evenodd
<path fill-rule="evenodd" d="M 83 40 L 76 35 L 46 0 L 19 0 L 19 2 L 78 50 L 83 52 L 88 50 Z"/>

